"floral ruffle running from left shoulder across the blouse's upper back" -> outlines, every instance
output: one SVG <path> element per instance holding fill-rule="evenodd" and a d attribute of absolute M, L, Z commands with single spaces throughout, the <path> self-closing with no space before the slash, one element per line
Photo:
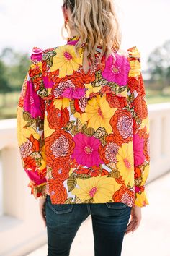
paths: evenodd
<path fill-rule="evenodd" d="M 43 53 L 46 50 L 42 48 L 34 47 L 32 48 L 32 53 L 30 59 L 32 61 L 30 68 L 30 77 L 33 82 L 35 91 L 37 95 L 40 95 L 44 100 L 55 100 L 56 98 L 69 98 L 69 99 L 91 99 L 97 95 L 105 95 L 107 93 L 116 95 L 118 97 L 127 97 L 127 87 L 119 86 L 115 82 L 107 82 L 107 80 L 102 79 L 102 76 L 98 74 L 96 77 L 97 82 L 101 85 L 94 87 L 91 84 L 86 84 L 84 88 L 73 88 L 69 86 L 71 79 L 69 81 L 59 81 L 52 80 L 47 72 L 43 72 L 42 65 L 45 64 L 43 61 Z M 101 81 L 100 81 L 101 80 Z"/>

